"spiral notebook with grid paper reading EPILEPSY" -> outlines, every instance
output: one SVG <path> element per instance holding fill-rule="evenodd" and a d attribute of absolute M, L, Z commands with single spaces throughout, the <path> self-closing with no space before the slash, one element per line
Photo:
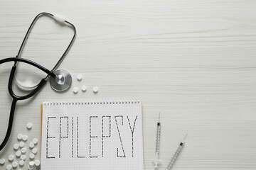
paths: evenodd
<path fill-rule="evenodd" d="M 41 170 L 142 170 L 139 100 L 46 101 Z"/>

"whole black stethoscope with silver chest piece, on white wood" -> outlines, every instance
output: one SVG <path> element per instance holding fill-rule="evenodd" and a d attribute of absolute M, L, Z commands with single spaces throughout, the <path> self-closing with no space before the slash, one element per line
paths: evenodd
<path fill-rule="evenodd" d="M 58 62 L 55 64 L 55 66 L 53 67 L 53 69 L 51 71 L 46 69 L 45 67 L 41 66 L 40 64 L 37 64 L 36 62 L 33 62 L 31 60 L 26 60 L 26 59 L 23 59 L 23 58 L 20 57 L 21 52 L 23 50 L 23 47 L 26 43 L 26 40 L 28 39 L 29 33 L 31 32 L 31 30 L 32 30 L 34 24 L 36 23 L 36 21 L 38 20 L 38 18 L 40 18 L 41 16 L 50 16 L 50 18 L 54 18 L 59 23 L 68 24 L 68 26 L 71 26 L 74 30 L 73 38 L 70 41 L 67 49 L 65 50 L 65 52 L 60 57 L 60 59 L 58 60 Z M 46 84 L 46 82 L 49 78 L 50 78 L 50 86 L 55 91 L 65 91 L 70 87 L 71 82 L 72 82 L 71 75 L 63 69 L 60 69 L 60 70 L 56 70 L 56 69 L 58 68 L 60 63 L 63 61 L 65 55 L 67 55 L 68 51 L 70 50 L 71 45 L 75 41 L 75 36 L 76 36 L 75 26 L 72 23 L 70 23 L 68 21 L 65 21 L 65 19 L 63 17 L 58 16 L 58 15 L 53 15 L 51 13 L 46 13 L 46 12 L 39 13 L 33 19 L 31 25 L 29 26 L 29 28 L 26 32 L 25 38 L 23 39 L 23 42 L 21 43 L 21 47 L 18 50 L 18 55 L 16 55 L 16 57 L 10 57 L 10 58 L 6 58 L 4 60 L 0 60 L 0 64 L 3 64 L 5 62 L 14 62 L 14 66 L 11 69 L 11 74 L 10 74 L 10 77 L 9 77 L 9 84 L 8 84 L 9 94 L 13 98 L 13 101 L 12 101 L 12 104 L 11 104 L 11 111 L 10 111 L 8 129 L 7 129 L 7 132 L 6 132 L 6 136 L 4 137 L 4 141 L 0 145 L 0 151 L 1 151 L 1 149 L 4 148 L 4 146 L 8 142 L 9 137 L 11 135 L 11 128 L 12 128 L 12 125 L 13 125 L 14 111 L 15 111 L 15 108 L 16 108 L 17 101 L 31 98 L 32 96 L 37 94 L 38 91 L 40 91 L 43 88 L 43 86 Z M 13 81 L 15 79 L 15 72 L 16 72 L 16 67 L 17 67 L 18 62 L 24 62 L 26 64 L 31 64 L 32 66 L 37 67 L 38 69 L 41 69 L 43 72 L 46 72 L 46 74 L 48 74 L 45 78 L 41 79 L 39 84 L 37 84 L 29 94 L 27 94 L 25 96 L 17 96 L 16 94 L 14 94 L 14 91 L 12 89 L 12 84 L 13 84 Z M 18 81 L 16 81 L 16 82 L 19 84 Z M 20 84 L 20 86 L 23 86 L 23 85 Z"/>

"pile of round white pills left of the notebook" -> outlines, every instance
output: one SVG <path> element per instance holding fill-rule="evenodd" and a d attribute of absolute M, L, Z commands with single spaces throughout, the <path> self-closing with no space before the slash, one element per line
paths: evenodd
<path fill-rule="evenodd" d="M 27 124 L 27 129 L 31 130 L 32 129 L 32 123 Z M 6 165 L 6 170 L 11 170 L 11 169 L 17 169 L 17 167 L 23 167 L 26 162 L 26 142 L 28 141 L 28 136 L 27 135 L 22 135 L 18 134 L 17 135 L 17 140 L 18 143 L 14 144 L 14 151 L 15 151 L 15 156 L 10 154 L 8 157 L 9 164 Z M 38 152 L 38 149 L 35 147 L 38 144 L 38 139 L 33 138 L 31 142 L 29 142 L 28 147 L 30 148 L 31 153 L 29 153 L 29 159 L 30 162 L 28 164 L 28 170 L 33 170 L 34 167 L 36 169 L 39 168 L 40 166 L 40 161 L 39 160 L 33 160 L 36 157 L 36 154 Z M 0 159 L 0 169 L 1 166 L 4 166 L 6 160 L 5 159 Z"/>

